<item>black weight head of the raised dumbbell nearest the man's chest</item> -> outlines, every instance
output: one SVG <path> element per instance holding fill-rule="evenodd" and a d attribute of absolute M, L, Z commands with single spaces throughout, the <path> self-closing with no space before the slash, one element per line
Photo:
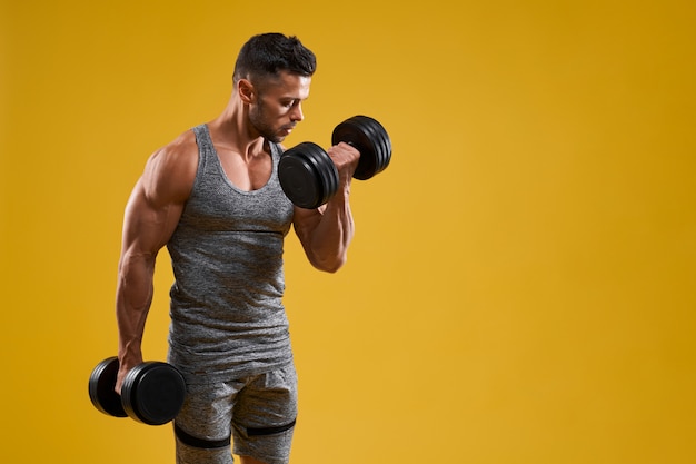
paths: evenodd
<path fill-rule="evenodd" d="M 308 141 L 282 155 L 278 178 L 286 196 L 306 209 L 324 205 L 338 188 L 336 166 L 321 147 Z"/>

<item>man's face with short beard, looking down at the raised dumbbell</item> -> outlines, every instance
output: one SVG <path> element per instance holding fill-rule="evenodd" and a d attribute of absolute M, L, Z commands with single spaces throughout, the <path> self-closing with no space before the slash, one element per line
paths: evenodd
<path fill-rule="evenodd" d="M 256 86 L 257 99 L 249 106 L 251 126 L 266 139 L 280 144 L 302 119 L 302 101 L 309 97 L 311 77 L 281 72 Z"/>

